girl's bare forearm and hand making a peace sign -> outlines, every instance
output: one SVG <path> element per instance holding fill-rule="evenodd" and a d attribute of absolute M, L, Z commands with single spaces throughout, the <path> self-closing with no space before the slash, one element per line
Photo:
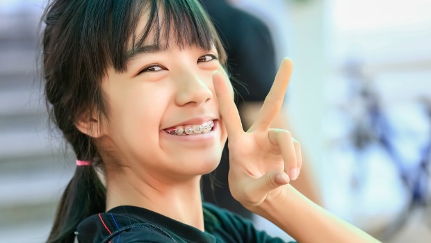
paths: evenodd
<path fill-rule="evenodd" d="M 231 99 L 227 78 L 218 72 L 213 74 L 220 115 L 229 136 L 231 194 L 245 208 L 272 221 L 298 242 L 378 242 L 288 185 L 302 167 L 300 144 L 288 131 L 270 126 L 282 108 L 292 68 L 291 60 L 285 58 L 247 132 L 243 131 Z"/>

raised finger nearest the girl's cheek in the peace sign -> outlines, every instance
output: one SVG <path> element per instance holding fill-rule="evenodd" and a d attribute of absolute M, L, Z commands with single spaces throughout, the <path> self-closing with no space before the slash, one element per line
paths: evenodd
<path fill-rule="evenodd" d="M 244 130 L 232 96 L 233 91 L 230 91 L 231 89 L 227 86 L 226 79 L 218 71 L 213 73 L 214 90 L 217 95 L 220 114 L 225 123 L 227 135 L 232 139 L 239 133 L 244 132 Z"/>

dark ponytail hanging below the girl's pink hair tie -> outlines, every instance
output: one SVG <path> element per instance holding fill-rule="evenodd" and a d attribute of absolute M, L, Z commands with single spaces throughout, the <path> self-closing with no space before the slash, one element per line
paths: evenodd
<path fill-rule="evenodd" d="M 90 215 L 104 212 L 106 189 L 94 166 L 77 166 L 56 212 L 47 243 L 73 243 L 78 224 Z"/>

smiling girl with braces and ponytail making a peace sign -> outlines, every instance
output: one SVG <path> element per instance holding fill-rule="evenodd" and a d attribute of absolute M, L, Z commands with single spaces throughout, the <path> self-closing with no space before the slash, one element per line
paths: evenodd
<path fill-rule="evenodd" d="M 228 135 L 229 187 L 245 208 L 300 242 L 375 241 L 288 185 L 300 144 L 269 127 L 290 60 L 244 132 L 197 0 L 53 0 L 43 19 L 45 94 L 77 158 L 48 242 L 282 242 L 202 203 L 200 178 Z"/>

